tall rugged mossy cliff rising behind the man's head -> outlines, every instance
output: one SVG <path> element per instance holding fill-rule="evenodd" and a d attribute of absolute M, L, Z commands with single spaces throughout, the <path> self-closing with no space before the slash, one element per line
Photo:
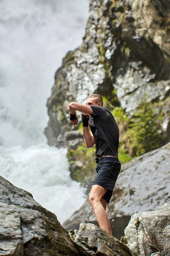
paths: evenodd
<path fill-rule="evenodd" d="M 63 59 L 47 102 L 50 145 L 70 146 L 64 134 L 77 129 L 69 125 L 71 101 L 84 103 L 91 93 L 111 97 L 115 88 L 130 114 L 145 93 L 152 102 L 169 97 L 169 12 L 169 0 L 90 0 L 83 43 Z M 164 111 L 164 131 L 169 124 Z"/>

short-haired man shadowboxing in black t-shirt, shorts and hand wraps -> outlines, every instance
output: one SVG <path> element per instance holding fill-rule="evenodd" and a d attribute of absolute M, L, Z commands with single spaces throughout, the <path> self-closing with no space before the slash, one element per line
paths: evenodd
<path fill-rule="evenodd" d="M 82 125 L 85 145 L 91 148 L 96 144 L 96 172 L 89 201 L 99 227 L 112 235 L 111 224 L 106 214 L 121 164 L 118 159 L 119 128 L 111 112 L 103 107 L 103 99 L 99 94 L 88 96 L 86 105 L 71 102 L 68 111 L 70 122 L 77 125 L 76 111 L 82 112 Z M 91 128 L 91 135 L 88 125 Z"/>

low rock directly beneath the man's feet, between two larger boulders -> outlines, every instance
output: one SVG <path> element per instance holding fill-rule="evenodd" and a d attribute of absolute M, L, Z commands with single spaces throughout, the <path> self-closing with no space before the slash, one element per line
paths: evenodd
<path fill-rule="evenodd" d="M 74 243 L 81 256 L 130 256 L 125 244 L 90 223 L 80 224 Z"/>

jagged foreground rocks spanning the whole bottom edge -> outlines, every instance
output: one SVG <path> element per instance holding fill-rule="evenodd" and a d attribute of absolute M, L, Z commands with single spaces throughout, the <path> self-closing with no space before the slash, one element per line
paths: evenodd
<path fill-rule="evenodd" d="M 133 215 L 121 241 L 90 223 L 67 232 L 32 195 L 0 176 L 2 256 L 169 256 L 170 204 Z"/>

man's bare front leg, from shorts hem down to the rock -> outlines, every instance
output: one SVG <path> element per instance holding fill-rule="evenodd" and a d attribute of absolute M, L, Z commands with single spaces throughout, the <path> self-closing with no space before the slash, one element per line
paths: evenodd
<path fill-rule="evenodd" d="M 111 224 L 110 224 L 110 222 L 108 223 L 108 216 L 105 212 L 105 208 L 102 205 L 103 201 L 101 202 L 102 197 L 103 197 L 103 195 L 105 195 L 107 190 L 108 189 L 105 189 L 102 186 L 93 185 L 91 188 L 90 195 L 89 195 L 89 201 L 91 203 L 91 206 L 93 207 L 94 214 L 96 216 L 99 227 L 101 227 L 103 230 L 105 230 L 110 235 L 112 235 Z"/>

